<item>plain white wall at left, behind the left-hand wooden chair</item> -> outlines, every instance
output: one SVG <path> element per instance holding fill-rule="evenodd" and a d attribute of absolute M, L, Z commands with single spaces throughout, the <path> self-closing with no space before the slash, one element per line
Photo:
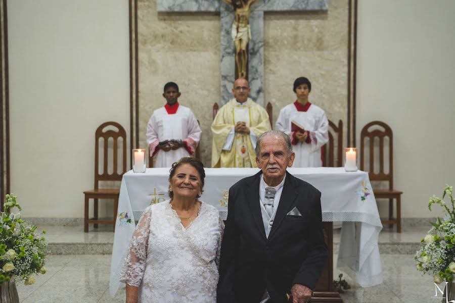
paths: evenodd
<path fill-rule="evenodd" d="M 26 217 L 83 217 L 94 136 L 129 142 L 128 2 L 8 2 L 11 188 Z"/>

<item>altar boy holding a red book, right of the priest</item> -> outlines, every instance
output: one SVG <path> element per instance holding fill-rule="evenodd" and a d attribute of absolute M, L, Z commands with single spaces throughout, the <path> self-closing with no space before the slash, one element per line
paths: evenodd
<path fill-rule="evenodd" d="M 295 167 L 321 167 L 321 147 L 329 140 L 329 121 L 323 109 L 309 102 L 311 82 L 307 78 L 294 81 L 294 92 L 297 100 L 280 111 L 275 129 L 291 137 Z"/>

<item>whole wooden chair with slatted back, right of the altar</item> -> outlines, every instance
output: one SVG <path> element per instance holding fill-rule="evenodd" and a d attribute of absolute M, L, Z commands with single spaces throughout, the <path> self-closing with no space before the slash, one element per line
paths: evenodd
<path fill-rule="evenodd" d="M 366 139 L 369 139 L 366 144 Z M 375 172 L 375 138 L 379 139 L 379 172 Z M 389 141 L 389 170 L 384 170 L 384 139 Z M 383 224 L 389 224 L 392 227 L 396 224 L 396 231 L 401 232 L 401 194 L 402 191 L 393 189 L 393 134 L 392 129 L 386 123 L 373 121 L 365 125 L 360 133 L 360 170 L 366 169 L 366 147 L 370 149 L 369 156 L 369 176 L 371 181 L 386 181 L 389 183 L 389 189 L 373 189 L 377 199 L 389 199 L 389 219 L 383 220 Z M 396 199 L 396 218 L 393 219 L 393 199 Z"/>

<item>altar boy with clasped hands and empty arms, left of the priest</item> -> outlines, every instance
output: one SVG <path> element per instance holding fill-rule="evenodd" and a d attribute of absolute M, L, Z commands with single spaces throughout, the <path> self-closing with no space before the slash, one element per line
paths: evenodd
<path fill-rule="evenodd" d="M 178 103 L 178 85 L 164 85 L 164 107 L 155 110 L 147 124 L 147 144 L 150 155 L 156 157 L 155 167 L 171 167 L 182 157 L 193 155 L 201 128 L 193 112 Z"/>

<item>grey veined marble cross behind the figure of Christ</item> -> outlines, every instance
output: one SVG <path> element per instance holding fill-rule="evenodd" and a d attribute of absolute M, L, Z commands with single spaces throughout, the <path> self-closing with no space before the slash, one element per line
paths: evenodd
<path fill-rule="evenodd" d="M 223 0 L 225 1 L 225 0 Z M 163 13 L 219 12 L 221 18 L 221 104 L 232 97 L 235 76 L 236 45 L 232 39 L 236 11 L 233 6 L 221 0 L 157 0 L 157 10 Z M 236 0 L 228 0 L 236 2 Z M 239 2 L 239 0 L 237 0 Z M 327 11 L 329 0 L 240 0 L 250 3 L 249 26 L 251 38 L 245 64 L 251 87 L 251 98 L 264 106 L 264 12 Z M 239 45 L 241 46 L 241 45 Z"/>

